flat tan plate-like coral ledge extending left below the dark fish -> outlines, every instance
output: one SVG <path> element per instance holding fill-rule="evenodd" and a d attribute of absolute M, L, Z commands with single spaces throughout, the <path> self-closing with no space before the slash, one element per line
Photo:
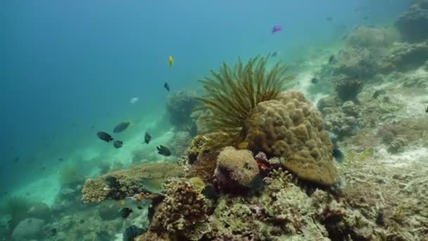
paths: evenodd
<path fill-rule="evenodd" d="M 83 186 L 83 202 L 101 202 L 111 197 L 123 199 L 147 191 L 146 188 L 168 178 L 182 177 L 184 172 L 177 164 L 145 163 L 130 169 L 118 170 L 89 179 Z"/>

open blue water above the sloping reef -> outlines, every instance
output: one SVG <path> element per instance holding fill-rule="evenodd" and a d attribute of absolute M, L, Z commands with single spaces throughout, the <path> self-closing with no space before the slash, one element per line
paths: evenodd
<path fill-rule="evenodd" d="M 158 118 L 165 81 L 172 91 L 198 89 L 196 80 L 221 61 L 270 51 L 291 62 L 300 47 L 332 45 L 365 16 L 392 23 L 409 3 L 1 1 L 0 190 L 40 178 L 40 166 L 55 171 L 61 155 L 99 142 L 92 126 Z M 362 6 L 369 10 L 355 11 Z M 282 32 L 272 35 L 273 25 Z"/>

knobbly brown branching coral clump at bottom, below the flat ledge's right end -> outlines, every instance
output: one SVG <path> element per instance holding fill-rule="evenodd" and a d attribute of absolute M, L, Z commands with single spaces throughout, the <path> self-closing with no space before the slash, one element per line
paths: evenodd
<path fill-rule="evenodd" d="M 199 240 L 208 220 L 208 204 L 203 194 L 185 179 L 170 180 L 164 188 L 166 198 L 158 207 L 150 230 L 180 240 Z"/>

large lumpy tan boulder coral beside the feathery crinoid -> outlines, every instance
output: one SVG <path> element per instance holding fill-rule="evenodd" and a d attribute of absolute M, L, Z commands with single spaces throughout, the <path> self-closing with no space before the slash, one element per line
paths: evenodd
<path fill-rule="evenodd" d="M 248 149 L 284 157 L 283 165 L 299 178 L 321 185 L 339 181 L 321 113 L 301 92 L 283 92 L 277 100 L 259 103 L 244 125 L 244 136 Z"/>

